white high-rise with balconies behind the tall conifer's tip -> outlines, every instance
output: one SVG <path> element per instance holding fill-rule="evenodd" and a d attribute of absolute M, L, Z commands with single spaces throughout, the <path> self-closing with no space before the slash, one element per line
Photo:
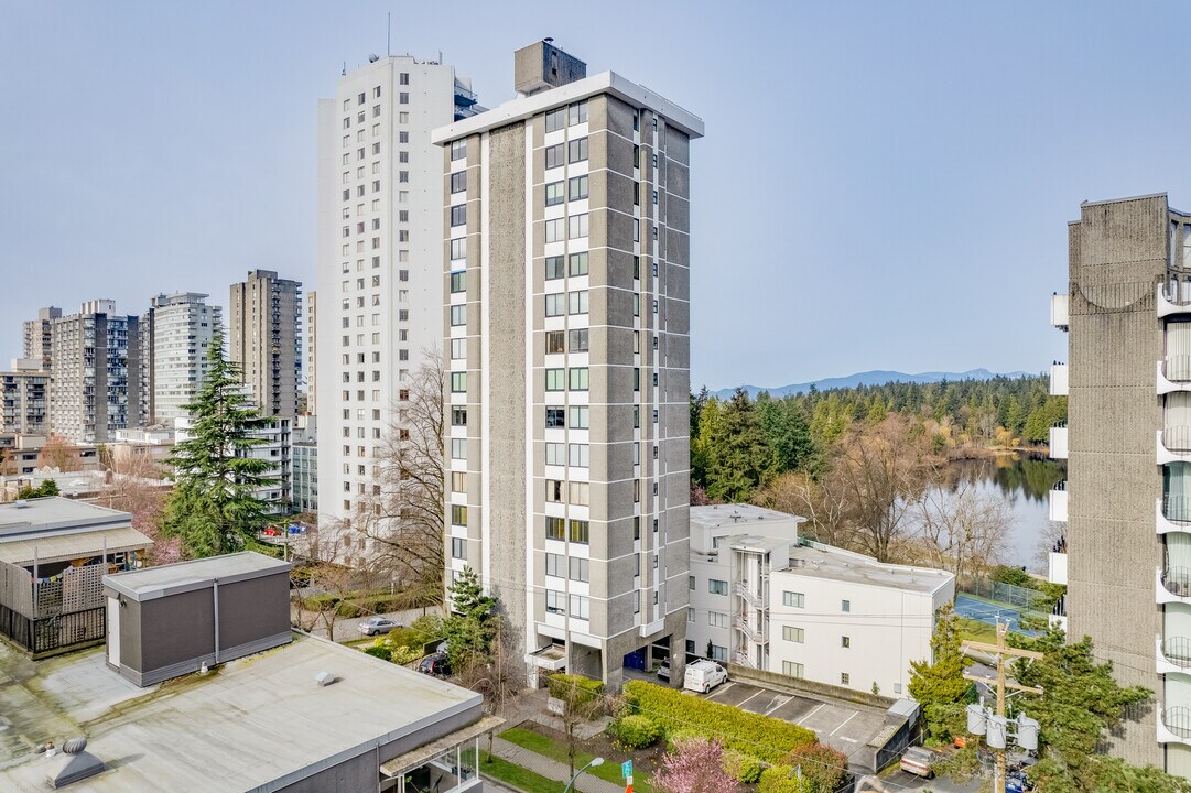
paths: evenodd
<path fill-rule="evenodd" d="M 207 351 L 223 319 L 219 306 L 208 306 L 208 295 L 197 292 L 160 294 L 145 318 L 150 324 L 152 407 L 151 423 L 173 424 L 189 416 L 186 405 L 207 377 Z"/>

